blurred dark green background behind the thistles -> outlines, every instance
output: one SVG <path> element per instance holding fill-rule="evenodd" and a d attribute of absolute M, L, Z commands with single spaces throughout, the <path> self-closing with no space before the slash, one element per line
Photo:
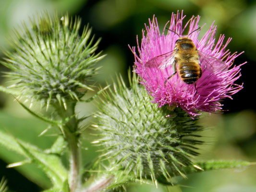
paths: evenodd
<path fill-rule="evenodd" d="M 97 85 L 111 83 L 116 74 L 127 79 L 127 69 L 133 65 L 134 56 L 128 48 L 136 45 L 136 35 L 141 39 L 144 24 L 155 14 L 160 30 L 170 20 L 171 12 L 184 10 L 189 19 L 201 16 L 200 25 L 209 26 L 214 20 L 218 26 L 217 35 L 225 34 L 233 40 L 228 46 L 232 52 L 245 51 L 235 60 L 242 66 L 242 77 L 237 84 L 244 83 L 244 89 L 233 96 L 233 100 L 223 101 L 223 114 L 212 114 L 202 119 L 201 124 L 210 127 L 202 134 L 207 142 L 201 147 L 201 156 L 196 159 L 223 159 L 256 161 L 256 1 L 255 0 L 0 0 L 0 47 L 9 48 L 8 37 L 12 28 L 21 21 L 28 21 L 37 12 L 47 10 L 79 15 L 83 25 L 89 23 L 96 37 L 102 37 L 98 50 L 107 57 L 98 63 L 102 73 L 95 77 Z M 207 30 L 204 27 L 203 30 Z M 227 38 L 226 38 L 227 39 Z M 0 57 L 3 57 L 0 52 Z M 113 70 L 114 69 L 114 70 Z M 1 71 L 6 69 L 1 66 Z M 0 79 L 2 84 L 6 79 Z M 0 129 L 16 137 L 47 149 L 54 137 L 39 137 L 47 125 L 24 112 L 13 98 L 0 95 Z M 81 115 L 95 111 L 94 105 L 81 104 L 77 111 Z M 85 126 L 90 120 L 85 122 Z M 91 140 L 85 138 L 84 159 L 97 156 Z M 49 180 L 34 166 L 18 169 L 5 168 L 8 163 L 22 160 L 20 156 L 6 151 L 0 146 L 0 178 L 5 176 L 10 191 L 37 192 L 49 187 Z M 196 160 L 195 159 L 195 160 Z M 65 162 L 64 162 L 65 163 Z M 22 174 L 23 175 L 22 175 Z M 25 177 L 24 177 L 25 175 Z M 33 181 L 40 178 L 40 182 Z M 188 180 L 178 178 L 183 192 L 256 192 L 256 166 L 243 170 L 209 171 L 189 175 Z M 38 187 L 39 186 L 39 187 Z M 131 185 L 128 192 L 181 192 L 179 188 L 149 185 Z"/>

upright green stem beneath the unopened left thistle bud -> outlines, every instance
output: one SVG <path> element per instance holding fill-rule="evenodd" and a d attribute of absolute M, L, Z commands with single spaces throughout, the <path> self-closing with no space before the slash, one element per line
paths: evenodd
<path fill-rule="evenodd" d="M 63 106 L 56 105 L 58 114 L 63 121 L 66 121 L 62 127 L 64 138 L 69 148 L 69 186 L 70 192 L 76 192 L 81 187 L 80 175 L 80 149 L 78 147 L 80 134 L 78 132 L 78 120 L 75 117 L 76 103 L 68 103 L 66 109 Z"/>

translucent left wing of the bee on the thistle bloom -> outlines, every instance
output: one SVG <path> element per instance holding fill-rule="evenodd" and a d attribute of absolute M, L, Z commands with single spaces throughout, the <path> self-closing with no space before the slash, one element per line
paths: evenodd
<path fill-rule="evenodd" d="M 173 50 L 168 53 L 158 55 L 157 57 L 154 57 L 151 60 L 147 61 L 145 66 L 149 68 L 158 68 L 160 70 L 163 70 L 174 62 L 175 53 L 176 50 Z"/>

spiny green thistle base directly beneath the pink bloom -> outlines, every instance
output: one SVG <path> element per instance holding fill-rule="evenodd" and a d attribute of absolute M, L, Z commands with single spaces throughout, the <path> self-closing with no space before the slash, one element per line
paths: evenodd
<path fill-rule="evenodd" d="M 105 93 L 96 115 L 101 139 L 93 143 L 104 147 L 101 158 L 156 184 L 186 177 L 185 168 L 193 166 L 191 158 L 198 155 L 196 145 L 203 143 L 195 139 L 200 137 L 196 132 L 203 128 L 181 108 L 158 108 L 137 77 L 130 80 L 131 89 L 122 78 L 118 84 Z"/>

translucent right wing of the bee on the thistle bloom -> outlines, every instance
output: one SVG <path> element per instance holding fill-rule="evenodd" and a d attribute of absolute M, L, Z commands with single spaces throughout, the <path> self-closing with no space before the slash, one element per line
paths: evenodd
<path fill-rule="evenodd" d="M 209 56 L 206 53 L 198 51 L 200 57 L 200 64 L 202 68 L 205 68 L 210 72 L 225 72 L 228 71 L 228 66 L 222 61 L 215 57 Z"/>

